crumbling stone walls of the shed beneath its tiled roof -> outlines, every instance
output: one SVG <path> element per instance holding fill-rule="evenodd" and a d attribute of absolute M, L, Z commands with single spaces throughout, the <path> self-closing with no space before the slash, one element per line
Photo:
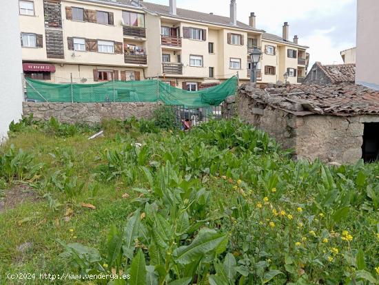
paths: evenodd
<path fill-rule="evenodd" d="M 294 149 L 295 158 L 355 163 L 362 158 L 364 123 L 379 122 L 379 116 L 331 116 L 289 111 L 289 105 L 280 108 L 260 101 L 261 95 L 268 94 L 265 90 L 254 89 L 251 85 L 243 88 L 236 98 L 238 116 L 276 138 L 283 148 Z M 269 98 L 268 101 L 276 99 Z"/>

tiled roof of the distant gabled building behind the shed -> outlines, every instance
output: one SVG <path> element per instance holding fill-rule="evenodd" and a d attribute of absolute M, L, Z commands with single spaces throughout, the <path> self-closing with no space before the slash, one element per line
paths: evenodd
<path fill-rule="evenodd" d="M 354 63 L 322 65 L 317 62 L 315 65 L 320 67 L 320 70 L 331 80 L 331 84 L 356 82 L 356 65 Z"/>

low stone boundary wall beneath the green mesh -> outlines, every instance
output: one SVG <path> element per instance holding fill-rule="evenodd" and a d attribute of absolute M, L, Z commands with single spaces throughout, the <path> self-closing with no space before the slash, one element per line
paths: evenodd
<path fill-rule="evenodd" d="M 23 103 L 23 115 L 37 120 L 95 125 L 103 119 L 151 118 L 160 103 Z"/>

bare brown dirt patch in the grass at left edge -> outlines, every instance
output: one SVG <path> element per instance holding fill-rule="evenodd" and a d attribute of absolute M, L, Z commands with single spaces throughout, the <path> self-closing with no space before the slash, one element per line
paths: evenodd
<path fill-rule="evenodd" d="M 13 209 L 26 201 L 39 200 L 38 194 L 26 184 L 14 184 L 11 189 L 0 190 L 0 213 Z"/>

